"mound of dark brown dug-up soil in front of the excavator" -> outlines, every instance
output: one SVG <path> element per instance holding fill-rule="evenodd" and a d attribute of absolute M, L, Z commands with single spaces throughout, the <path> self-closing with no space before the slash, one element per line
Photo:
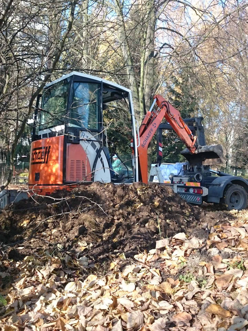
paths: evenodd
<path fill-rule="evenodd" d="M 167 186 L 93 183 L 8 206 L 0 214 L 0 242 L 14 260 L 49 248 L 93 261 L 133 257 L 178 232 L 199 228 L 204 237 L 199 225 L 230 218 L 221 213 L 190 206 Z"/>

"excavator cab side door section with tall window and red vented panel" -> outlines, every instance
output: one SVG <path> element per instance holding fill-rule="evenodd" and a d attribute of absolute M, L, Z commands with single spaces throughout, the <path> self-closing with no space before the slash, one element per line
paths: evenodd
<path fill-rule="evenodd" d="M 65 139 L 65 182 L 110 182 L 103 152 L 102 82 L 73 76 Z"/>

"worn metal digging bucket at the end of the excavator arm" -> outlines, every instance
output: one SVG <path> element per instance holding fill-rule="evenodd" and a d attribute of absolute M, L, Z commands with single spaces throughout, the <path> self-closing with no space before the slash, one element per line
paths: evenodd
<path fill-rule="evenodd" d="M 194 154 L 185 148 L 181 154 L 191 166 L 210 166 L 223 163 L 223 148 L 221 144 L 198 146 Z"/>

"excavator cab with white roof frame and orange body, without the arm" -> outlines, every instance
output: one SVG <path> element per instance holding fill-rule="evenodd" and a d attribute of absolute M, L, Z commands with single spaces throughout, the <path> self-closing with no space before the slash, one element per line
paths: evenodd
<path fill-rule="evenodd" d="M 122 146 L 118 149 L 118 141 L 112 143 L 107 136 L 109 130 L 113 136 L 116 119 L 111 118 L 116 110 L 119 117 L 125 113 L 125 132 L 129 137 L 126 150 L 130 150 L 130 157 L 125 155 L 124 159 L 118 154 Z M 48 83 L 41 98 L 37 98 L 29 189 L 49 195 L 57 188 L 111 182 L 113 177 L 121 176 L 122 182 L 138 181 L 137 142 L 134 142 L 133 158 L 130 148 L 130 137 L 135 136 L 129 89 L 80 72 L 64 75 Z M 125 139 L 119 140 L 123 145 Z M 112 169 L 113 154 L 118 154 L 120 173 Z"/>

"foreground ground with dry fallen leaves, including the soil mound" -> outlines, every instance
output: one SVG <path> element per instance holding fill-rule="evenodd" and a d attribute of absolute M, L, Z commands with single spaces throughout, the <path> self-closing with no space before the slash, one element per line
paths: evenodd
<path fill-rule="evenodd" d="M 82 190 L 83 194 L 68 194 L 66 201 L 57 200 L 56 207 L 49 200 L 46 215 L 41 212 L 43 207 L 30 210 L 39 206 L 36 202 L 29 202 L 29 210 L 23 203 L 22 211 L 18 205 L 2 213 L 2 238 L 6 237 L 0 256 L 3 330 L 246 330 L 247 210 L 215 212 L 208 206 L 190 207 L 156 185 L 123 187 L 121 198 L 116 192 L 107 197 L 106 191 L 115 188 L 104 186 L 107 201 L 86 197 Z M 64 208 L 62 215 L 58 215 L 58 202 Z M 83 223 L 86 230 L 82 234 L 64 240 L 63 220 L 83 222 L 82 210 L 88 205 L 93 212 L 94 203 L 98 206 L 91 217 L 98 217 L 95 221 L 100 224 L 102 218 L 103 223 L 108 219 L 111 226 L 101 230 L 92 223 L 97 240 L 90 241 L 89 227 Z M 124 206 L 116 208 L 122 203 Z M 120 217 L 126 222 L 122 239 L 116 231 Z M 177 219 L 179 231 L 175 231 Z M 170 222 L 173 230 L 169 230 Z M 69 226 L 66 229 L 69 233 Z M 61 237 L 54 236 L 54 230 Z M 141 241 L 142 248 L 125 250 L 125 239 L 139 233 L 152 239 L 147 248 L 144 250 Z M 91 251 L 101 245 L 105 245 L 105 253 L 98 259 Z"/>

